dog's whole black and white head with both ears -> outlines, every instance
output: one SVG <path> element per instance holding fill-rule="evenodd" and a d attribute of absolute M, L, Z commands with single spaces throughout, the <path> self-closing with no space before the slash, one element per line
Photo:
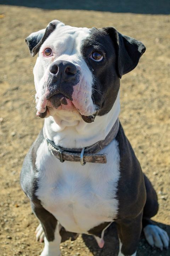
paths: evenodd
<path fill-rule="evenodd" d="M 65 26 L 54 20 L 26 38 L 35 67 L 37 115 L 75 112 L 87 123 L 108 113 L 120 78 L 134 69 L 145 46 L 114 28 Z"/>

